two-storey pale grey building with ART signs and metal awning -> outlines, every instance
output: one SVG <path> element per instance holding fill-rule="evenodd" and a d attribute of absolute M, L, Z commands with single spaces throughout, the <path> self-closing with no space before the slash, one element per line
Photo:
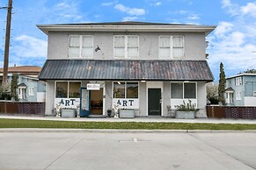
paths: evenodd
<path fill-rule="evenodd" d="M 82 116 L 135 110 L 166 116 L 167 105 L 188 101 L 206 117 L 206 39 L 215 26 L 143 22 L 37 25 L 48 35 L 46 114 L 57 103 L 81 107 Z"/>

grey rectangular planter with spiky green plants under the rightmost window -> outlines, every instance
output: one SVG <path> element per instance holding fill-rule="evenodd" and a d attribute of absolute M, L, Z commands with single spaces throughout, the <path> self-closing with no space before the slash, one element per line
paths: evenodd
<path fill-rule="evenodd" d="M 185 118 L 185 119 L 192 119 L 194 118 L 196 109 L 196 104 L 192 103 L 191 100 L 188 100 L 188 103 L 183 101 L 183 104 L 176 105 L 176 118 Z"/>

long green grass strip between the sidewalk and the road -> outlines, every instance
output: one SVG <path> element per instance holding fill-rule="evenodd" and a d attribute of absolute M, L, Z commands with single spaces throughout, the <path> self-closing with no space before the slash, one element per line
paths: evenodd
<path fill-rule="evenodd" d="M 256 124 L 72 122 L 0 118 L 0 128 L 121 129 L 121 130 L 256 130 Z"/>

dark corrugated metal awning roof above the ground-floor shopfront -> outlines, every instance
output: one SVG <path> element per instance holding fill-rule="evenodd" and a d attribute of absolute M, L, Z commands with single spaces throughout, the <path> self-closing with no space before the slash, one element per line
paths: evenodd
<path fill-rule="evenodd" d="M 206 60 L 47 60 L 40 80 L 213 81 Z"/>

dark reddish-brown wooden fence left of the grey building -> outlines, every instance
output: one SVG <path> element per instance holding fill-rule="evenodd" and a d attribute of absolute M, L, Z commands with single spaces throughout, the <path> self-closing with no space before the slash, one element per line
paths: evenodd
<path fill-rule="evenodd" d="M 45 103 L 0 102 L 0 114 L 44 115 Z"/>

